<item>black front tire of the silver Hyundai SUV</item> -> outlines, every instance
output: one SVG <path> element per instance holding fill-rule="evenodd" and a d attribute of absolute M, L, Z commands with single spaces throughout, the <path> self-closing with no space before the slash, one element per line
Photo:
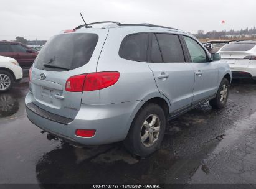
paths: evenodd
<path fill-rule="evenodd" d="M 225 99 L 221 101 L 222 94 L 220 94 L 220 93 L 222 92 L 222 89 L 223 89 L 224 85 L 227 88 L 227 93 L 226 93 Z M 220 86 L 219 86 L 219 89 L 217 91 L 216 98 L 209 101 L 212 108 L 222 109 L 222 108 L 225 107 L 225 104 L 227 103 L 227 98 L 229 97 L 229 86 L 230 86 L 229 81 L 226 78 L 223 78 L 222 81 L 220 82 Z"/>

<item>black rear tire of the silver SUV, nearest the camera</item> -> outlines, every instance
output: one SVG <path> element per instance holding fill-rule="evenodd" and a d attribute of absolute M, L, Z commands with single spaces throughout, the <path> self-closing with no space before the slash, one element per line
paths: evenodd
<path fill-rule="evenodd" d="M 151 117 L 152 118 L 151 118 Z M 156 117 L 155 117 L 156 116 Z M 155 124 L 153 125 L 153 118 L 156 118 Z M 150 121 L 148 126 L 151 124 L 153 127 L 152 129 L 149 128 L 146 131 L 145 121 Z M 159 126 L 159 132 L 154 130 Z M 124 144 L 128 151 L 131 152 L 133 155 L 138 155 L 140 157 L 146 157 L 157 149 L 161 142 L 163 141 L 164 132 L 166 127 L 166 117 L 164 115 L 163 109 L 158 104 L 147 103 L 143 108 L 138 111 L 133 122 L 130 127 L 130 131 L 128 132 L 128 136 L 126 137 Z M 152 131 L 153 130 L 153 131 Z M 143 133 L 144 132 L 144 133 Z M 141 139 L 142 136 L 146 136 L 145 134 L 149 133 L 149 136 L 144 142 Z M 146 138 L 146 137 L 145 137 Z M 150 144 L 153 139 L 153 144 Z M 146 144 L 148 142 L 148 144 Z M 150 146 L 145 146 L 150 145 Z"/>

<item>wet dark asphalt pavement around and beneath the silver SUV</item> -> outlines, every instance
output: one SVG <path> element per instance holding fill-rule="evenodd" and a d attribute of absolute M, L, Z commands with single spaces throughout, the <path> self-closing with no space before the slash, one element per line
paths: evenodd
<path fill-rule="evenodd" d="M 169 122 L 161 149 L 138 159 L 122 142 L 75 148 L 48 141 L 27 119 L 27 81 L 0 94 L 0 183 L 256 184 L 254 83 L 232 83 L 220 111 L 206 103 Z"/>

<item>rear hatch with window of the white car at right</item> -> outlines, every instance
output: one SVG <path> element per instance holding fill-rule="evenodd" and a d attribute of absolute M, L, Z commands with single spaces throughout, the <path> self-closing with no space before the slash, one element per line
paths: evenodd
<path fill-rule="evenodd" d="M 219 51 L 221 58 L 226 60 L 232 68 L 247 68 L 250 60 L 244 59 L 247 56 L 252 55 L 255 43 L 234 43 L 226 44 Z"/>

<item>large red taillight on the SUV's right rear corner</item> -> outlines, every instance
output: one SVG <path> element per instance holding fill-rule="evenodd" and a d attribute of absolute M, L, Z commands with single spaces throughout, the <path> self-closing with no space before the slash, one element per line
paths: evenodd
<path fill-rule="evenodd" d="M 70 92 L 95 91 L 114 85 L 119 79 L 119 72 L 96 72 L 70 77 L 65 90 Z"/>

